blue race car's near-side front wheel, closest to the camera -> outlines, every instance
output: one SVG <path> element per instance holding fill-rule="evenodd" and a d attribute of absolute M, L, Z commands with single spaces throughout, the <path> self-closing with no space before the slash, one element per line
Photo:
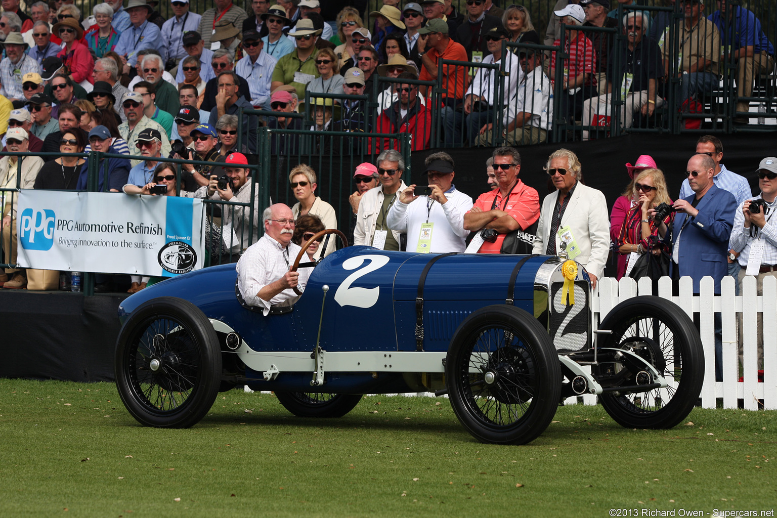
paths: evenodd
<path fill-rule="evenodd" d="M 561 368 L 548 332 L 514 306 L 482 308 L 459 325 L 445 377 L 456 417 L 483 443 L 534 440 L 561 398 Z"/>

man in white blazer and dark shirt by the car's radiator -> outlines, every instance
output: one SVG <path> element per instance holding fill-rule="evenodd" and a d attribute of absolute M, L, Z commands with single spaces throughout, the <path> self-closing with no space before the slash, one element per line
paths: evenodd
<path fill-rule="evenodd" d="M 605 273 L 610 252 L 610 221 L 605 195 L 579 181 L 583 177 L 582 166 L 573 151 L 559 149 L 552 152 L 545 171 L 557 190 L 542 200 L 532 253 L 562 254 L 579 262 L 585 266 L 591 287 L 595 288 Z"/>

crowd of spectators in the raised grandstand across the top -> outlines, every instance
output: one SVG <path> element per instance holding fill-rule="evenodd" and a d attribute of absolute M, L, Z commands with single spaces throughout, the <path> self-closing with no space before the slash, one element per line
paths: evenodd
<path fill-rule="evenodd" d="M 368 13 L 345 7 L 334 20 L 323 18 L 320 0 L 254 0 L 251 12 L 216 0 L 200 13 L 190 11 L 188 0 L 173 0 L 167 20 L 157 2 L 109 0 L 91 13 L 69 2 L 35 2 L 30 16 L 18 0 L 4 3 L 0 133 L 14 109 L 30 111 L 41 140 L 56 132 L 65 104 L 89 114 L 91 122 L 82 124 L 87 133 L 89 124 L 97 125 L 96 111 L 112 130 L 102 112 L 113 109 L 115 137 L 127 141 L 138 124 L 143 130 L 156 123 L 168 155 L 170 141 L 190 145 L 176 122 L 182 106 L 196 109 L 187 114 L 198 123 L 217 127 L 221 117 L 242 108 L 307 110 L 302 101 L 308 94 L 364 96 L 328 98 L 331 109 L 322 110 L 326 120 L 314 130 L 406 132 L 414 151 L 436 144 L 435 134 L 445 147 L 493 145 L 497 137 L 527 145 L 547 141 L 554 123 L 581 125 L 580 137 L 588 138 L 591 127 L 615 123 L 613 106 L 622 127 L 636 117 L 643 123 L 663 109 L 673 88 L 671 109 L 693 112 L 720 85 L 726 60 L 736 75 L 735 122 L 747 123 L 755 78 L 774 69 L 774 47 L 761 21 L 731 0 L 714 6 L 681 0 L 683 17 L 676 22 L 632 1 L 618 0 L 618 11 L 610 0 L 559 0 L 542 43 L 561 48 L 563 59 L 556 51 L 520 47 L 541 42 L 528 9 L 503 11 L 490 0 L 466 0 L 465 12 L 444 0 L 385 0 Z M 616 19 L 618 13 L 625 16 Z M 331 9 L 326 14 L 334 16 Z M 503 53 L 506 42 L 519 46 Z M 397 81 L 376 89 L 379 78 Z M 142 98 L 133 120 L 127 120 L 127 92 Z M 315 119 L 315 110 L 307 113 Z M 238 129 L 254 154 L 260 125 L 301 129 L 301 122 L 246 116 Z M 274 143 L 274 152 L 298 151 L 291 140 Z M 398 143 L 371 145 L 379 152 Z M 56 149 L 56 139 L 44 145 L 44 151 Z"/>

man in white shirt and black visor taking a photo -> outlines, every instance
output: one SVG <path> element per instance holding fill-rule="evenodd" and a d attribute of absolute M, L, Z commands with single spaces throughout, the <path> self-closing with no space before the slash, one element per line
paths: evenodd
<path fill-rule="evenodd" d="M 427 186 L 407 186 L 399 191 L 386 216 L 392 231 L 407 235 L 408 252 L 464 252 L 464 214 L 472 198 L 453 185 L 454 163 L 445 152 L 432 153 L 424 161 Z"/>

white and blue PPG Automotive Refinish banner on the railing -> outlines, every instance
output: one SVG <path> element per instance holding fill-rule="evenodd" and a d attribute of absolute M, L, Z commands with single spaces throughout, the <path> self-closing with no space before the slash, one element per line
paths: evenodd
<path fill-rule="evenodd" d="M 22 189 L 19 266 L 176 276 L 203 267 L 202 200 Z"/>

